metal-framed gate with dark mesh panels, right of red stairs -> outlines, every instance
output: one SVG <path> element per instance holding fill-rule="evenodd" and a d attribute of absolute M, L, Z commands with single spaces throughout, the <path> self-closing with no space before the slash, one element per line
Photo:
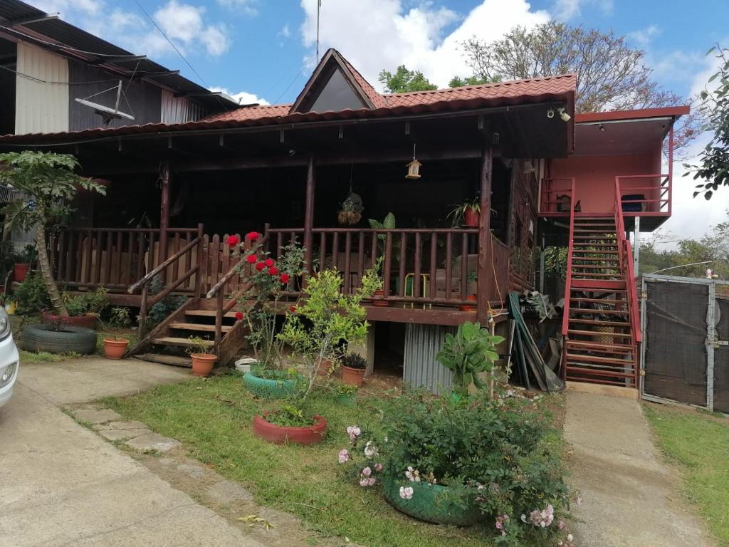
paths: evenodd
<path fill-rule="evenodd" d="M 729 282 L 643 276 L 641 395 L 729 413 Z"/>

